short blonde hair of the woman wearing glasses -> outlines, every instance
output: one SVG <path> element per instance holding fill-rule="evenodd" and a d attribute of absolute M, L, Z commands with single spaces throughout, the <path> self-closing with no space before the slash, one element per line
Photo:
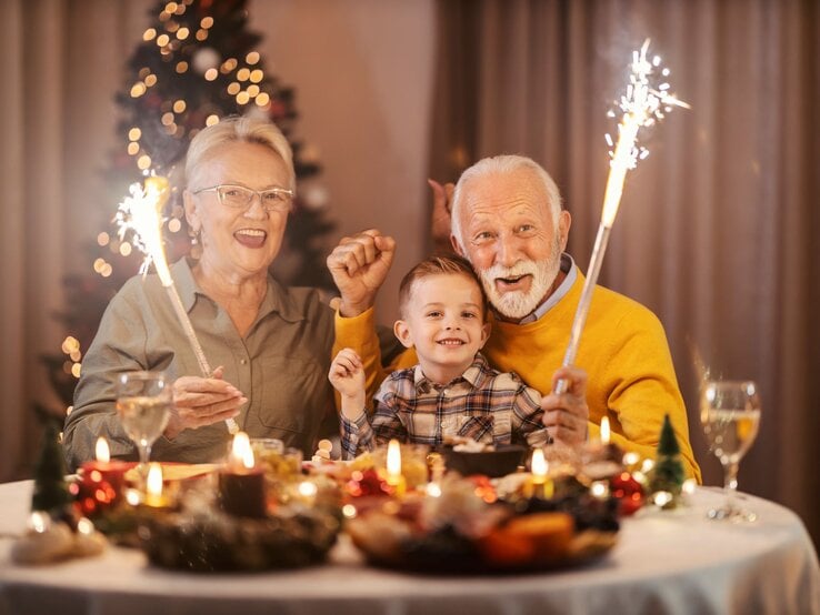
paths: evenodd
<path fill-rule="evenodd" d="M 191 181 L 199 164 L 227 143 L 241 141 L 259 143 L 279 155 L 288 169 L 288 182 L 296 190 L 296 171 L 293 170 L 293 152 L 284 134 L 269 120 L 232 115 L 222 118 L 218 123 L 200 130 L 191 139 L 186 157 L 186 179 Z M 198 186 L 199 188 L 199 186 Z"/>

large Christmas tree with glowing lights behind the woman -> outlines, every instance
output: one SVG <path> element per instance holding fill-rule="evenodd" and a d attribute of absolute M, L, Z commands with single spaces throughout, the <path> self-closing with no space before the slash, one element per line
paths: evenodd
<path fill-rule="evenodd" d="M 174 183 L 166 212 L 166 251 L 173 262 L 190 249 L 180 199 L 184 153 L 191 138 L 227 115 L 270 118 L 293 149 L 298 182 L 294 212 L 273 263 L 274 276 L 288 285 L 332 289 L 324 265 L 323 239 L 333 229 L 326 219 L 327 192 L 318 182 L 317 157 L 293 137 L 298 113 L 293 89 L 264 70 L 257 46 L 260 34 L 248 30 L 247 0 L 160 1 L 151 23 L 128 60 L 123 89 L 117 94 L 122 111 L 123 142 L 107 172 L 111 212 L 128 186 L 149 172 Z M 96 273 L 67 280 L 66 310 L 58 314 L 69 335 L 62 353 L 43 357 L 64 410 L 73 395 L 82 352 L 91 343 L 102 312 L 124 281 L 139 269 L 141 255 L 100 229 L 94 250 Z M 132 253 L 133 252 L 133 253 Z"/>

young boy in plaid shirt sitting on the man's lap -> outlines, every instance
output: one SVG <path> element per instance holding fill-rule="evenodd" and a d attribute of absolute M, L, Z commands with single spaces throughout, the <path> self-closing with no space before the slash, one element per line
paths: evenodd
<path fill-rule="evenodd" d="M 458 256 L 422 261 L 399 288 L 402 320 L 393 332 L 416 346 L 419 364 L 393 372 L 364 409 L 364 370 L 351 349 L 337 354 L 328 377 L 341 395 L 344 458 L 390 438 L 438 445 L 453 436 L 509 444 L 543 443 L 541 395 L 512 373 L 492 370 L 479 352 L 490 334 L 483 289 Z"/>

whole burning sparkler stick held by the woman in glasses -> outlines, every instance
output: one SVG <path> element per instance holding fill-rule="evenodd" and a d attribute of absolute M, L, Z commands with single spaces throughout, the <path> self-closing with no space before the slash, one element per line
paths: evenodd
<path fill-rule="evenodd" d="M 168 179 L 160 177 L 146 178 L 146 188 L 142 189 L 139 183 L 134 183 L 130 188 L 130 193 L 131 195 L 126 196 L 120 203 L 117 212 L 116 222 L 119 225 L 120 239 L 129 230 L 133 232 L 133 244 L 146 254 L 146 260 L 142 261 L 142 266 L 140 266 L 140 273 L 147 273 L 151 263 L 153 263 L 182 331 L 193 349 L 193 354 L 197 356 L 202 377 L 210 377 L 213 370 L 208 363 L 208 359 L 197 339 L 197 333 L 191 325 L 191 320 L 188 317 L 188 312 L 186 312 L 182 300 L 179 298 L 162 246 L 162 208 L 169 196 Z M 226 425 L 232 434 L 239 431 L 239 425 L 233 419 L 227 419 Z"/>

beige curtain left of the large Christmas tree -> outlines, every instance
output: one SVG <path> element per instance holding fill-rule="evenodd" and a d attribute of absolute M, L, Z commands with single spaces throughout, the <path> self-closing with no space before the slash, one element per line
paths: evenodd
<path fill-rule="evenodd" d="M 40 357 L 60 352 L 62 281 L 90 272 L 89 229 L 111 215 L 100 204 L 118 143 L 112 95 L 148 4 L 0 3 L 0 481 L 31 473 L 33 404 L 59 410 Z"/>

